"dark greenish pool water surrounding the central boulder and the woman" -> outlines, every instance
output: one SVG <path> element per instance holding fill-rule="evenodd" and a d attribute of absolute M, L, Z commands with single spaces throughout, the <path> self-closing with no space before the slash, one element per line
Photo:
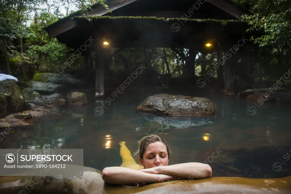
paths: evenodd
<path fill-rule="evenodd" d="M 101 116 L 94 113 L 99 104 L 89 100 L 85 107 L 65 108 L 60 116 L 18 127 L 3 139 L 0 148 L 19 148 L 22 144 L 23 148 L 84 149 L 84 166 L 102 170 L 121 164 L 118 142 L 125 141 L 133 154 L 143 136 L 156 132 L 173 152 L 170 165 L 206 160 L 213 176 L 272 178 L 291 174 L 291 160 L 285 161 L 278 172 L 272 168 L 291 149 L 288 107 L 264 104 L 256 115 L 249 116 L 247 108 L 252 102 L 192 92 L 169 93 L 209 98 L 216 104 L 214 117 L 177 121 L 145 116 L 136 112 L 136 107 L 147 96 L 159 92 L 124 91 Z M 213 154 L 217 149 L 219 155 Z"/>

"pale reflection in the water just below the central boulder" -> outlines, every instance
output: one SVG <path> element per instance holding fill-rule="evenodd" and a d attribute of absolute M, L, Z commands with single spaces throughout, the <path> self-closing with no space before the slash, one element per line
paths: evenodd
<path fill-rule="evenodd" d="M 148 113 L 143 113 L 143 116 L 145 116 L 147 121 L 157 122 L 161 125 L 170 125 L 178 129 L 187 128 L 189 126 L 212 125 L 212 121 L 209 121 L 210 117 L 167 117 Z"/>

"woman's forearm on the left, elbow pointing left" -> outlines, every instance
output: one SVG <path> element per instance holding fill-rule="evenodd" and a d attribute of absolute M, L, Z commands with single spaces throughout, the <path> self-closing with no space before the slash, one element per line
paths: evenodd
<path fill-rule="evenodd" d="M 129 184 L 159 182 L 159 176 L 124 167 L 107 167 L 102 172 L 102 179 L 111 184 Z"/>

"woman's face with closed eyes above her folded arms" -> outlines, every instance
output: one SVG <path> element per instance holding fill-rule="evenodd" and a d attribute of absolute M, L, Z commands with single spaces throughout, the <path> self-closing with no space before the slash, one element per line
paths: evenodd
<path fill-rule="evenodd" d="M 139 158 L 139 163 L 141 166 L 144 166 L 144 168 L 168 166 L 168 162 L 167 147 L 160 141 L 150 143 L 143 154 L 143 159 Z"/>

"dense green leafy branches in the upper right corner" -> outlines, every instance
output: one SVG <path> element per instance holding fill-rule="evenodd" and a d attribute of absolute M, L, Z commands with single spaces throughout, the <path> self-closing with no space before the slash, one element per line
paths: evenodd
<path fill-rule="evenodd" d="M 262 36 L 251 40 L 260 47 L 273 47 L 285 55 L 291 48 L 291 1 L 290 0 L 233 0 L 249 8 L 253 15 L 244 15 L 249 21 L 247 31 L 260 31 Z"/>

